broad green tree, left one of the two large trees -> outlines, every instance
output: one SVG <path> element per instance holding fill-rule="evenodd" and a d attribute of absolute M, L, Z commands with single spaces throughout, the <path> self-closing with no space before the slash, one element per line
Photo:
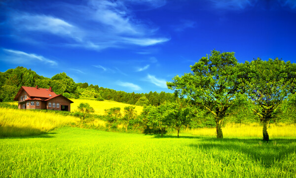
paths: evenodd
<path fill-rule="evenodd" d="M 240 84 L 244 71 L 240 71 L 238 65 L 233 52 L 213 50 L 210 56 L 202 57 L 190 66 L 192 72 L 181 77 L 177 75 L 172 82 L 167 82 L 169 89 L 212 114 L 217 138 L 223 138 L 224 118 L 243 101 Z"/>

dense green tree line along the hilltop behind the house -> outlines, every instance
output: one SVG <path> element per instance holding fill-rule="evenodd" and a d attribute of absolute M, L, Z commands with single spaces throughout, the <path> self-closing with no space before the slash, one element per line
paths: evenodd
<path fill-rule="evenodd" d="M 56 94 L 63 94 L 67 98 L 87 97 L 99 101 L 111 100 L 131 105 L 158 106 L 165 101 L 174 101 L 176 96 L 166 92 L 127 93 L 109 88 L 99 87 L 88 83 L 75 83 L 65 72 L 58 73 L 51 78 L 38 75 L 31 69 L 17 67 L 0 72 L 0 102 L 13 101 L 21 86 L 39 88 L 52 87 Z"/>

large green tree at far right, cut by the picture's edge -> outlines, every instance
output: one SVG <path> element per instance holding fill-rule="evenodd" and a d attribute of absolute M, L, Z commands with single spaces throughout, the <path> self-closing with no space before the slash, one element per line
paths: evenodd
<path fill-rule="evenodd" d="M 263 125 L 263 141 L 269 141 L 267 128 L 271 119 L 282 113 L 282 104 L 295 93 L 296 66 L 278 58 L 261 59 L 245 63 L 248 76 L 246 94 L 253 104 L 252 110 Z"/>

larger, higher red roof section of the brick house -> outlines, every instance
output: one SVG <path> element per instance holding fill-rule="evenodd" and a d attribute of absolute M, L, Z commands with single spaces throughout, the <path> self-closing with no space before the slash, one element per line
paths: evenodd
<path fill-rule="evenodd" d="M 51 98 L 57 96 L 52 91 L 49 91 L 47 88 L 36 88 L 36 87 L 27 87 L 27 86 L 22 86 L 18 93 L 16 94 L 14 101 L 17 101 L 21 92 L 25 90 L 29 96 L 29 98 Z"/>

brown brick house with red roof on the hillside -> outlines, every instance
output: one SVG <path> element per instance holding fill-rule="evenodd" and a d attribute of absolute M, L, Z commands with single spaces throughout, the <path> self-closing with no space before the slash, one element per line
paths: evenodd
<path fill-rule="evenodd" d="M 14 101 L 18 101 L 19 109 L 50 109 L 71 111 L 73 101 L 57 95 L 52 88 L 38 88 L 22 86 L 17 92 Z"/>

